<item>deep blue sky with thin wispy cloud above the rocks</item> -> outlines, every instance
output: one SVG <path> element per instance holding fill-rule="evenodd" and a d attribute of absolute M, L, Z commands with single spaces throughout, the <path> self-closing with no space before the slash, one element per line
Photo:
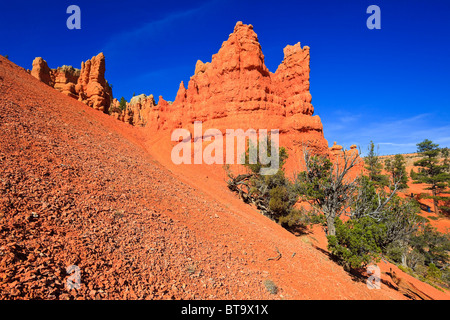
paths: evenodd
<path fill-rule="evenodd" d="M 81 30 L 66 9 L 81 8 Z M 369 5 L 381 30 L 369 30 Z M 99 52 L 114 96 L 175 98 L 198 59 L 211 61 L 237 21 L 254 26 L 275 72 L 283 48 L 311 48 L 311 94 L 325 138 L 381 154 L 450 146 L 450 1 L 8 1 L 0 8 L 0 54 L 30 69 L 80 67 Z"/>

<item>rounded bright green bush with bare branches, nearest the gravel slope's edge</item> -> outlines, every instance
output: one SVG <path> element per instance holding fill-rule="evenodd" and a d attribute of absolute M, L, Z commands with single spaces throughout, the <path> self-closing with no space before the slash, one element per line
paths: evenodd
<path fill-rule="evenodd" d="M 328 249 L 347 268 L 365 267 L 379 260 L 397 242 L 399 250 L 423 220 L 417 215 L 419 207 L 410 199 L 402 199 L 394 191 L 377 188 L 367 176 L 358 179 L 349 210 L 350 219 L 336 219 L 336 236 L 329 235 Z M 398 254 L 398 252 L 396 252 Z"/>

